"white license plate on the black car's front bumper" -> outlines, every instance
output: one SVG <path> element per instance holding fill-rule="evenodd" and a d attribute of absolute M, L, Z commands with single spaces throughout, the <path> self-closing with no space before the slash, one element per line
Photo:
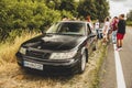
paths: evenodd
<path fill-rule="evenodd" d="M 24 61 L 24 67 L 30 67 L 30 68 L 43 70 L 43 65 L 42 64 L 26 62 L 26 61 Z"/>

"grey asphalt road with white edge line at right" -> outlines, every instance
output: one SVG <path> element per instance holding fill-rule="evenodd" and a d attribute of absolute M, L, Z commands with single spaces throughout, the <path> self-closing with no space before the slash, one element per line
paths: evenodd
<path fill-rule="evenodd" d="M 117 53 L 119 54 L 118 58 Z M 132 88 L 132 28 L 127 28 L 123 50 L 117 53 L 113 44 L 110 44 L 108 56 L 101 70 L 103 75 L 100 77 L 99 88 Z M 117 59 L 119 61 L 116 62 Z M 124 81 L 125 86 L 122 85 L 122 81 Z"/>

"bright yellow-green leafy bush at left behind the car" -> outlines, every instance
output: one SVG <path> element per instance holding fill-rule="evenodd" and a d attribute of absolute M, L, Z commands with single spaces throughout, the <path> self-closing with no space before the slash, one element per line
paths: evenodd
<path fill-rule="evenodd" d="M 64 14 L 72 16 L 70 12 L 52 10 L 47 8 L 44 2 L 32 0 L 1 0 L 0 40 L 4 40 L 8 36 L 15 36 L 15 31 L 12 31 L 15 29 L 45 30 L 45 28 L 52 23 L 59 21 Z"/>

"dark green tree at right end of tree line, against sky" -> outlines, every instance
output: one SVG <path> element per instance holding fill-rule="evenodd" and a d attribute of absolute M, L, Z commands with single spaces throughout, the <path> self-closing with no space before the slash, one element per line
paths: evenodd
<path fill-rule="evenodd" d="M 79 16 L 91 15 L 92 20 L 103 21 L 109 15 L 109 3 L 107 0 L 80 0 L 77 11 Z"/>

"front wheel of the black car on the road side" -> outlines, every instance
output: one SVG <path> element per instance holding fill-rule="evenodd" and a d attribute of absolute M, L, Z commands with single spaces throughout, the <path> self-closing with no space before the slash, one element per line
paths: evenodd
<path fill-rule="evenodd" d="M 87 62 L 87 55 L 86 55 L 86 52 L 84 52 L 81 54 L 81 58 L 80 58 L 80 62 L 79 62 L 79 74 L 82 74 L 85 72 L 86 62 Z"/>

